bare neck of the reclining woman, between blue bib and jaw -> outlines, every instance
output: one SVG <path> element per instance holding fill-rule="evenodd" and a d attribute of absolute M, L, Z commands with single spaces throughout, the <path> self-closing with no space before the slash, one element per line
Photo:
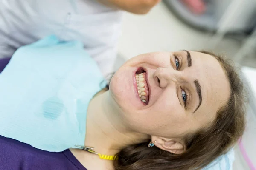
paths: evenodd
<path fill-rule="evenodd" d="M 144 142 L 148 135 L 134 132 L 125 126 L 109 91 L 94 97 L 87 110 L 85 146 L 106 155 L 115 155 L 122 148 Z"/>

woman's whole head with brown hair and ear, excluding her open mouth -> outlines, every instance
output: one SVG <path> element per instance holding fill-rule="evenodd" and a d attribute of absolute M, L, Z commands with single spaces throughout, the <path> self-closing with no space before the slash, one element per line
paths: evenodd
<path fill-rule="evenodd" d="M 138 67 L 147 75 L 148 105 L 137 99 L 136 88 L 129 89 Z M 116 170 L 206 166 L 243 133 L 242 89 L 234 67 L 207 51 L 150 53 L 130 59 L 113 76 L 110 93 L 125 124 L 149 134 L 156 147 L 148 148 L 145 142 L 123 149 Z"/>

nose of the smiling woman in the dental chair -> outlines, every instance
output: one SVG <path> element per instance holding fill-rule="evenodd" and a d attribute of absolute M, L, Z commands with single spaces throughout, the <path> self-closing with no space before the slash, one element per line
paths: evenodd
<path fill-rule="evenodd" d="M 154 72 L 154 79 L 160 88 L 165 88 L 170 83 L 177 83 L 178 71 L 173 68 L 157 68 Z"/>

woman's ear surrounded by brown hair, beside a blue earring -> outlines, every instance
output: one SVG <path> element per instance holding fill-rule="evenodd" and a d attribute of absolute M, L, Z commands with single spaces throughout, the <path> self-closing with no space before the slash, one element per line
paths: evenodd
<path fill-rule="evenodd" d="M 186 149 L 186 146 L 182 139 L 177 139 L 177 138 L 167 139 L 167 138 L 160 138 L 160 137 L 156 137 L 156 138 L 158 139 L 152 140 L 152 141 L 156 141 L 155 146 L 162 150 L 166 150 L 170 153 L 181 154 Z M 152 136 L 152 139 L 153 139 L 153 136 Z"/>

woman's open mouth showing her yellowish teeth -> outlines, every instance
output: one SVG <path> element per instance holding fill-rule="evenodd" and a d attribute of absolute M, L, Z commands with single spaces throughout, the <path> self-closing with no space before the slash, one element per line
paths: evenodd
<path fill-rule="evenodd" d="M 139 68 L 135 73 L 138 96 L 144 105 L 148 105 L 149 101 L 149 88 L 147 82 L 147 73 L 143 68 Z"/>

